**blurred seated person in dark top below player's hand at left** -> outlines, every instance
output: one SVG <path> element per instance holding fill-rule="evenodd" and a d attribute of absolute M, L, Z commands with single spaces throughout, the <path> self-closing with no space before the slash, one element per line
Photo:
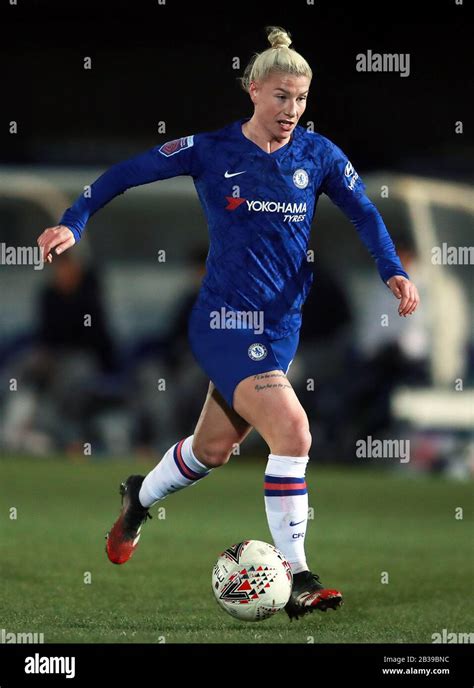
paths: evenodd
<path fill-rule="evenodd" d="M 95 439 L 94 414 L 110 403 L 106 374 L 117 371 L 118 358 L 94 270 L 73 253 L 49 270 L 33 348 L 12 367 L 18 392 L 6 399 L 3 440 L 35 454 L 82 453 Z"/>

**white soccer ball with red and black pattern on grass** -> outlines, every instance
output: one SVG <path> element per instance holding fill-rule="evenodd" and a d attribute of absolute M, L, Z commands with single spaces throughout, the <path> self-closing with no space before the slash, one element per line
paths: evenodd
<path fill-rule="evenodd" d="M 286 605 L 293 586 L 291 566 L 273 545 L 244 540 L 228 547 L 212 571 L 220 606 L 241 621 L 262 621 Z"/>

